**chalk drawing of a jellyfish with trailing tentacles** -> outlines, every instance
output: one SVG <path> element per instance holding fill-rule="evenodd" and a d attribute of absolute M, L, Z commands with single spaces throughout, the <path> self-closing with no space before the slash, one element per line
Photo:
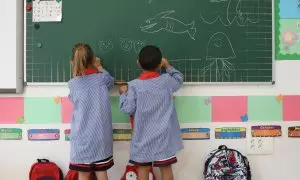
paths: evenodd
<path fill-rule="evenodd" d="M 202 69 L 202 73 L 215 73 L 217 80 L 221 78 L 221 75 L 230 77 L 235 68 L 229 60 L 235 58 L 236 55 L 228 36 L 223 32 L 217 32 L 209 38 L 206 49 L 208 65 Z"/>

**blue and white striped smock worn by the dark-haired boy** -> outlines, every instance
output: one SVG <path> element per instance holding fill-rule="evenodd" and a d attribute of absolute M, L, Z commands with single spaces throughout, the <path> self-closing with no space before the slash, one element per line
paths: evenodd
<path fill-rule="evenodd" d="M 169 67 L 166 74 L 128 83 L 120 96 L 122 112 L 134 115 L 130 160 L 145 163 L 170 158 L 183 149 L 173 93 L 179 90 L 183 75 Z"/>

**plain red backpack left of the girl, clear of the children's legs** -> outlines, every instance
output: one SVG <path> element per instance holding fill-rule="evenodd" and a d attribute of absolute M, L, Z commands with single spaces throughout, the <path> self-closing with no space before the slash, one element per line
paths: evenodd
<path fill-rule="evenodd" d="M 48 159 L 37 159 L 31 166 L 29 180 L 63 180 L 61 169 Z"/>

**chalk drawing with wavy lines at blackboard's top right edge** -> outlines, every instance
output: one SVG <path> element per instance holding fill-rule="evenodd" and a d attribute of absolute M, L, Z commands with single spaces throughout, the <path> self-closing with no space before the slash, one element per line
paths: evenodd
<path fill-rule="evenodd" d="M 213 0 L 213 1 L 220 1 L 220 0 Z M 242 9 L 246 9 L 246 8 L 242 7 L 242 0 L 229 0 L 225 12 L 225 17 L 218 15 L 213 21 L 208 21 L 200 13 L 200 18 L 206 24 L 214 24 L 217 21 L 219 21 L 224 26 L 231 26 L 234 22 L 236 22 L 238 26 L 246 26 L 248 23 L 253 23 L 253 24 L 258 23 L 259 4 L 258 1 L 253 1 L 253 3 L 257 3 L 257 7 L 256 7 L 257 12 L 243 12 Z M 253 10 L 253 8 L 251 8 L 251 10 Z M 257 17 L 249 18 L 249 16 L 253 16 L 253 15 L 256 15 Z"/>

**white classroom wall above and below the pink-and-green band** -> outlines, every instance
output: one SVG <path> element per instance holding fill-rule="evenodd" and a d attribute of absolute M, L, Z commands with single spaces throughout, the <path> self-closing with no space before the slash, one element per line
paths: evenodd
<path fill-rule="evenodd" d="M 2 29 L 0 29 L 2 33 Z M 300 95 L 300 61 L 278 61 L 275 63 L 275 85 L 192 85 L 184 86 L 176 96 L 237 96 L 237 95 Z M 0 94 L 0 97 L 56 97 L 68 95 L 68 89 L 62 86 L 27 86 L 24 94 Z M 115 88 L 111 95 L 117 95 Z M 0 110 L 1 111 L 1 110 Z M 203 179 L 204 161 L 208 153 L 221 144 L 236 148 L 246 153 L 246 139 L 215 140 L 215 127 L 247 127 L 266 123 L 193 123 L 182 124 L 182 127 L 211 128 L 211 140 L 185 141 L 185 149 L 178 154 L 179 163 L 174 166 L 175 179 Z M 287 137 L 287 127 L 300 125 L 298 122 L 269 122 L 282 125 L 283 136 L 275 138 L 272 155 L 248 156 L 253 180 L 298 180 L 300 161 L 300 140 Z M 0 141 L 0 179 L 27 180 L 30 166 L 36 158 L 49 158 L 64 171 L 68 169 L 69 143 L 62 137 L 59 141 L 30 142 L 26 139 L 26 130 L 32 128 L 58 128 L 63 132 L 68 124 L 59 125 L 0 125 L 0 127 L 18 127 L 23 129 L 22 141 Z M 116 124 L 116 128 L 129 127 L 128 124 Z M 248 135 L 250 132 L 248 132 Z M 109 171 L 109 179 L 118 180 L 124 172 L 128 161 L 129 142 L 115 142 L 114 156 L 116 165 Z"/>

